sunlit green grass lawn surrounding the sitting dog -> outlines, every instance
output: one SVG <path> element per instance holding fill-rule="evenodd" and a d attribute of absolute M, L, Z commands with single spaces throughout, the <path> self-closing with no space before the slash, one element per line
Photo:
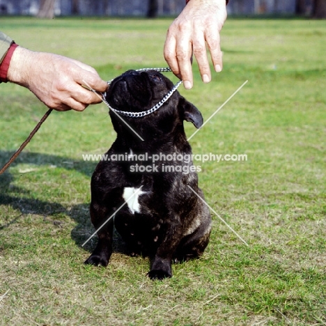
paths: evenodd
<path fill-rule="evenodd" d="M 107 80 L 166 66 L 170 22 L 1 18 L 1 30 Z M 162 282 L 118 235 L 109 267 L 83 264 L 95 245 L 81 247 L 93 233 L 96 162 L 81 154 L 104 153 L 115 133 L 104 104 L 53 112 L 0 176 L 1 325 L 325 325 L 325 37 L 321 21 L 228 20 L 223 72 L 204 85 L 194 65 L 194 88 L 180 92 L 205 119 L 248 80 L 191 144 L 195 154 L 247 154 L 197 164 L 206 200 L 249 247 L 213 214 L 203 257 L 173 265 Z M 46 108 L 13 84 L 1 84 L 0 98 L 2 166 Z"/>

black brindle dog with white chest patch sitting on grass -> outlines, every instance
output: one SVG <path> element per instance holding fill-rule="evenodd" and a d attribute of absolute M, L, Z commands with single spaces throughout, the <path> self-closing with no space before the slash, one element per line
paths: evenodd
<path fill-rule="evenodd" d="M 106 100 L 114 109 L 142 112 L 171 88 L 172 82 L 160 72 L 129 70 L 112 81 Z M 90 211 L 95 229 L 116 213 L 98 231 L 97 247 L 85 263 L 108 265 L 115 226 L 130 254 L 152 258 L 150 279 L 171 277 L 172 261 L 201 256 L 210 237 L 210 212 L 194 194 L 203 198 L 183 127 L 185 120 L 199 128 L 203 117 L 178 91 L 152 114 L 122 116 L 143 141 L 116 113 L 110 110 L 109 115 L 117 138 L 107 158 L 121 155 L 127 160 L 101 160 L 93 173 Z M 155 155 L 160 160 L 153 163 L 153 157 L 159 157 Z"/>

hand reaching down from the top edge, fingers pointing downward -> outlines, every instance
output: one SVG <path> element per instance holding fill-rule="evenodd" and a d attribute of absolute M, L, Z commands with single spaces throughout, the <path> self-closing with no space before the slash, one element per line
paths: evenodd
<path fill-rule="evenodd" d="M 219 32 L 226 20 L 225 0 L 190 0 L 167 32 L 164 57 L 185 88 L 193 85 L 192 54 L 196 57 L 203 82 L 211 80 L 206 44 L 215 71 L 222 71 Z"/>

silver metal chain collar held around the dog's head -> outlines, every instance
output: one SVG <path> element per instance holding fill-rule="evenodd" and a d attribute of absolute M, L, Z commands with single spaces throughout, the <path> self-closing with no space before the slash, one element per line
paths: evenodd
<path fill-rule="evenodd" d="M 149 70 L 155 70 L 158 72 L 171 72 L 170 68 L 142 68 L 142 69 L 137 69 L 136 71 L 149 71 Z M 107 84 L 110 85 L 111 82 L 114 79 L 111 79 L 109 81 L 107 81 Z M 113 107 L 111 107 L 111 105 L 107 102 L 107 92 L 102 93 L 102 100 L 105 104 L 107 104 L 107 106 L 109 107 L 110 110 L 116 112 L 117 114 L 121 114 L 122 116 L 129 116 L 130 118 L 140 118 L 142 116 L 147 116 L 148 114 L 152 114 L 153 112 L 157 111 L 157 109 L 160 109 L 160 107 L 162 107 L 162 105 L 169 100 L 169 98 L 171 98 L 172 94 L 178 89 L 178 87 L 180 86 L 180 84 L 183 81 L 180 80 L 178 81 L 178 83 L 176 83 L 176 85 L 173 86 L 173 88 L 171 89 L 171 91 L 169 91 L 169 93 L 167 93 L 164 98 L 162 98 L 162 100 L 160 102 L 158 102 L 157 104 L 154 105 L 154 107 L 152 107 L 151 109 L 147 110 L 147 111 L 142 111 L 142 112 L 127 112 L 127 111 L 119 111 L 117 109 L 114 109 Z"/>

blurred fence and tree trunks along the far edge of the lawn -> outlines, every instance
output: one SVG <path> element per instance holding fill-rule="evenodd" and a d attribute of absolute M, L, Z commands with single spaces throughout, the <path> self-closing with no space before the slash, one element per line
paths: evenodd
<path fill-rule="evenodd" d="M 0 15 L 139 16 L 178 15 L 185 0 L 0 0 Z M 228 15 L 302 15 L 326 18 L 326 0 L 231 0 Z"/>

